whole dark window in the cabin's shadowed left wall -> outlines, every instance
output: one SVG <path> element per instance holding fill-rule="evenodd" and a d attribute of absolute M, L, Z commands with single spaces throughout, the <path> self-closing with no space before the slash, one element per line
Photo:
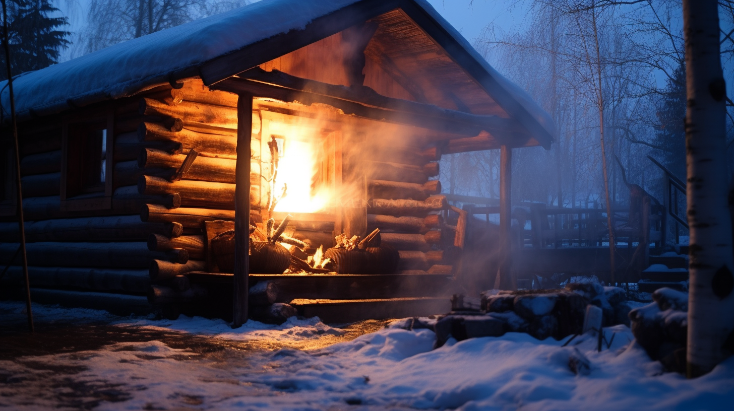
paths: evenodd
<path fill-rule="evenodd" d="M 62 208 L 110 208 L 112 139 L 108 121 L 69 123 L 65 128 Z"/>

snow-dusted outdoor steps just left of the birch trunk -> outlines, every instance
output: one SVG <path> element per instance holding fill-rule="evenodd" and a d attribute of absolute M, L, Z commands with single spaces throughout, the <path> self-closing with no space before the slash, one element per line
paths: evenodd
<path fill-rule="evenodd" d="M 640 274 L 637 282 L 639 291 L 652 293 L 663 287 L 688 291 L 688 258 L 685 255 L 674 252 L 650 255 L 650 267 Z"/>

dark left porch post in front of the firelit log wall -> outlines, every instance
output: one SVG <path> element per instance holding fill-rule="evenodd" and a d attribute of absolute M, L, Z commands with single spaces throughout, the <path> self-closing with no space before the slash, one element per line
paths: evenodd
<path fill-rule="evenodd" d="M 237 163 L 234 192 L 234 298 L 232 327 L 247 322 L 247 284 L 250 275 L 250 143 L 252 142 L 252 95 L 237 101 Z"/>

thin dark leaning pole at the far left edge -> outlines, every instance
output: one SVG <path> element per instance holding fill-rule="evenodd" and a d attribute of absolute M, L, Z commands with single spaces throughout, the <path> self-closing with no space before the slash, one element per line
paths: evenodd
<path fill-rule="evenodd" d="M 2 0 L 3 46 L 5 48 L 5 68 L 7 70 L 7 89 L 10 95 L 10 119 L 12 123 L 12 139 L 15 144 L 15 188 L 18 198 L 18 228 L 21 230 L 21 255 L 23 258 L 23 279 L 26 281 L 26 312 L 28 313 L 28 329 L 33 332 L 33 310 L 31 308 L 31 284 L 28 278 L 28 256 L 26 255 L 26 228 L 23 222 L 23 192 L 21 190 L 21 150 L 18 145 L 18 122 L 15 119 L 15 96 L 12 94 L 12 73 L 10 71 L 10 46 L 8 46 L 7 7 Z"/>

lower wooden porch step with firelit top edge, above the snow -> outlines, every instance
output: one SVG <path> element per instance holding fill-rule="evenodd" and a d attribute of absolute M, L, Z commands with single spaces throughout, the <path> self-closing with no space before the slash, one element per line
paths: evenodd
<path fill-rule="evenodd" d="M 365 319 L 401 319 L 445 314 L 451 310 L 451 299 L 294 299 L 290 303 L 302 316 L 319 317 L 331 324 L 344 324 Z"/>

